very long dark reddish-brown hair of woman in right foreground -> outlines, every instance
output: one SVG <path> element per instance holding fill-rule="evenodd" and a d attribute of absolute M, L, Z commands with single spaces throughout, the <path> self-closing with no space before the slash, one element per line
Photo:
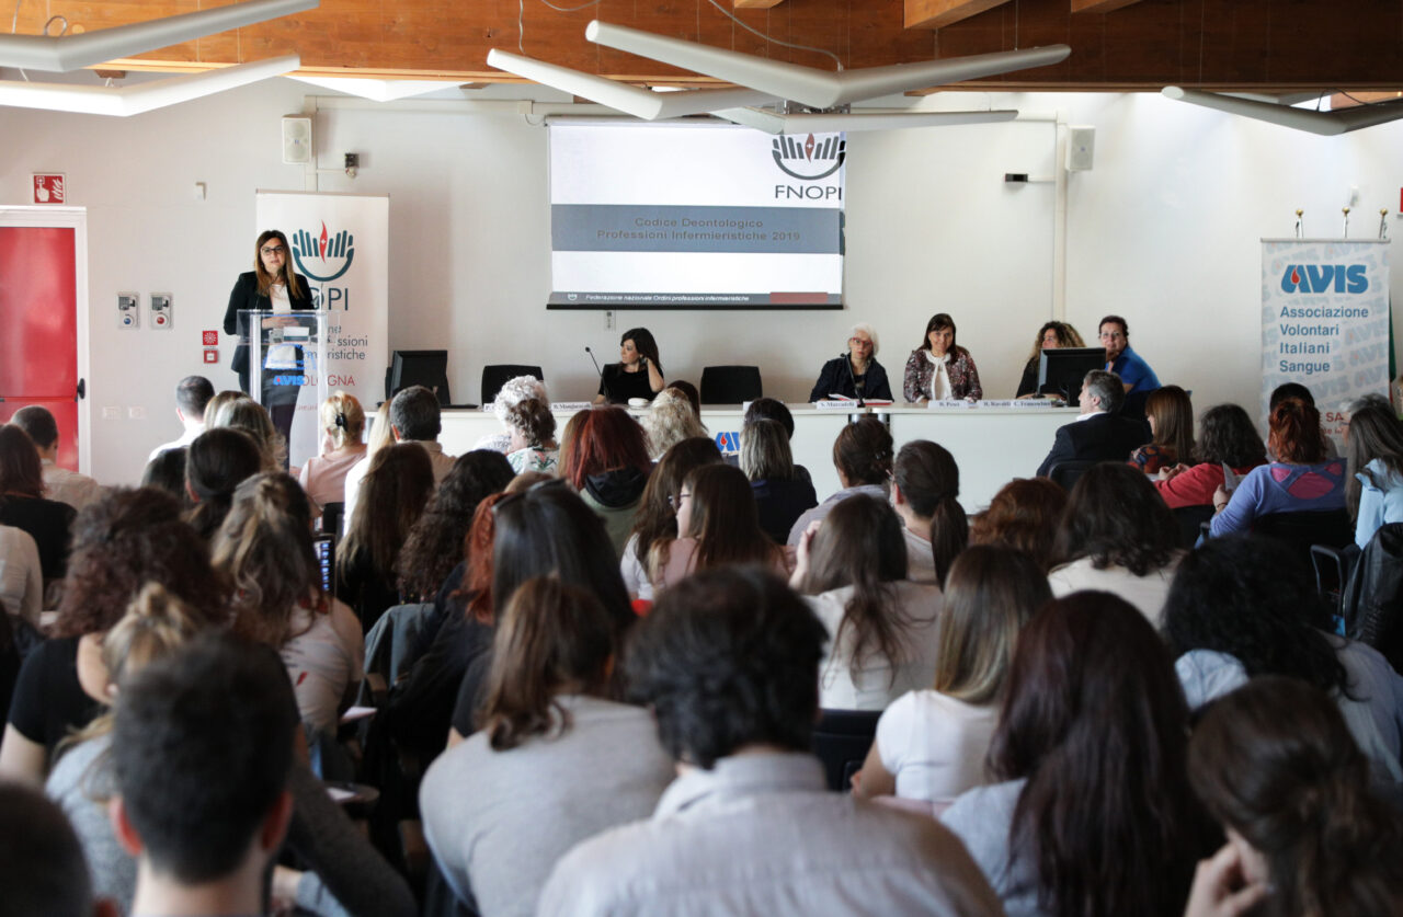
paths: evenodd
<path fill-rule="evenodd" d="M 1143 614 L 1104 592 L 1034 614 L 1013 652 L 989 763 L 999 780 L 1027 781 L 1010 843 L 1037 865 L 1040 911 L 1183 911 L 1194 864 L 1212 845 L 1187 746 L 1184 693 Z"/>

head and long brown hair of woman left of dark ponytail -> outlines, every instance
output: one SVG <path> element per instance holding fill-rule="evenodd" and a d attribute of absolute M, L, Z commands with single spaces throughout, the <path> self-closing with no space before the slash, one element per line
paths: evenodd
<path fill-rule="evenodd" d="M 814 536 L 800 587 L 808 595 L 853 587 L 833 634 L 836 646 L 852 632 L 853 672 L 873 655 L 901 659 L 904 616 L 888 583 L 906 579 L 906 571 L 901 517 L 884 499 L 854 494 L 840 501 Z"/>

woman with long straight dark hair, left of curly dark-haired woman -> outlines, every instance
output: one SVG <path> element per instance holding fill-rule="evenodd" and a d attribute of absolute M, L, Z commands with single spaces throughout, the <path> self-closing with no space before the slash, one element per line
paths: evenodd
<path fill-rule="evenodd" d="M 434 466 L 418 443 L 375 453 L 361 480 L 361 501 L 337 545 L 335 595 L 369 631 L 400 603 L 400 548 L 434 494 Z"/>

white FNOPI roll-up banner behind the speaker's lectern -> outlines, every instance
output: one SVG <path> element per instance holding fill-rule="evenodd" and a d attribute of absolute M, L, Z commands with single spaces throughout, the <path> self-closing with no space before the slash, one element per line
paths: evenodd
<path fill-rule="evenodd" d="M 282 230 L 293 271 L 307 278 L 325 320 L 327 393 L 348 391 L 366 416 L 384 398 L 389 366 L 390 198 L 257 192 L 257 230 Z M 288 454 L 292 466 L 320 451 L 316 380 L 297 398 Z"/>

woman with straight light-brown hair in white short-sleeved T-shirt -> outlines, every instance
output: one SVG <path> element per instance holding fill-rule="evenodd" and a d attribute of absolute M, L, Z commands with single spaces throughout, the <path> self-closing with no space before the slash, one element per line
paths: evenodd
<path fill-rule="evenodd" d="M 1051 597 L 1047 576 L 1023 551 L 974 547 L 961 554 L 946 580 L 936 681 L 902 694 L 882 712 L 853 792 L 943 809 L 984 785 L 1013 646 Z"/>

